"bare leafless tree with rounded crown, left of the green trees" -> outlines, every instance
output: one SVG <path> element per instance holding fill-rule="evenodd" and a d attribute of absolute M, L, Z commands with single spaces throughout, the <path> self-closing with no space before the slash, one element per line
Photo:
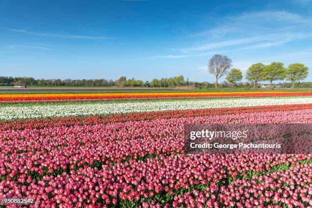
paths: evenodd
<path fill-rule="evenodd" d="M 216 54 L 209 60 L 209 72 L 215 74 L 216 83 L 215 86 L 218 88 L 218 80 L 221 76 L 228 72 L 228 69 L 232 66 L 232 61 L 227 56 L 221 56 Z"/>

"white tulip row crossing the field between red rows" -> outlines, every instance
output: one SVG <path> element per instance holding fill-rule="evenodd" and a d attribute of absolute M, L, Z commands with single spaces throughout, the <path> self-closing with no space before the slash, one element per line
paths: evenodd
<path fill-rule="evenodd" d="M 137 102 L 94 102 L 58 105 L 0 106 L 0 119 L 66 117 L 132 112 L 231 108 L 312 103 L 312 97 L 235 98 Z"/>

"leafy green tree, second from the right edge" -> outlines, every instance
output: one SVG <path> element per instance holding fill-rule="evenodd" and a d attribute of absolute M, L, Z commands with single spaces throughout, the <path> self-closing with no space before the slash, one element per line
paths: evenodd
<path fill-rule="evenodd" d="M 272 62 L 270 65 L 265 66 L 263 71 L 263 81 L 270 81 L 270 86 L 273 88 L 273 81 L 284 80 L 286 69 L 284 64 L 281 62 Z"/>

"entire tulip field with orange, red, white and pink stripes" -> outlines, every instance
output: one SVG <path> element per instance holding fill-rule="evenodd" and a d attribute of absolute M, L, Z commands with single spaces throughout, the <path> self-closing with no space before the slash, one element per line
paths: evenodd
<path fill-rule="evenodd" d="M 312 207 L 312 154 L 187 154 L 186 123 L 312 123 L 312 93 L 0 94 L 0 199 Z"/>

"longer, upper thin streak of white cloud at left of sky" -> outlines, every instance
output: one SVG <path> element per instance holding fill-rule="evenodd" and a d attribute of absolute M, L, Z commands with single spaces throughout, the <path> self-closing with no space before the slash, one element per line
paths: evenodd
<path fill-rule="evenodd" d="M 17 33 L 24 33 L 28 35 L 36 35 L 36 36 L 46 36 L 46 37 L 57 37 L 57 38 L 72 38 L 72 39 L 90 39 L 90 40 L 98 40 L 98 39 L 115 39 L 112 37 L 106 36 L 82 36 L 82 35 L 72 35 L 72 34 L 51 34 L 51 33 L 37 33 L 31 32 L 26 30 L 16 30 L 16 29 L 8 29 L 9 31 L 17 32 Z"/>

